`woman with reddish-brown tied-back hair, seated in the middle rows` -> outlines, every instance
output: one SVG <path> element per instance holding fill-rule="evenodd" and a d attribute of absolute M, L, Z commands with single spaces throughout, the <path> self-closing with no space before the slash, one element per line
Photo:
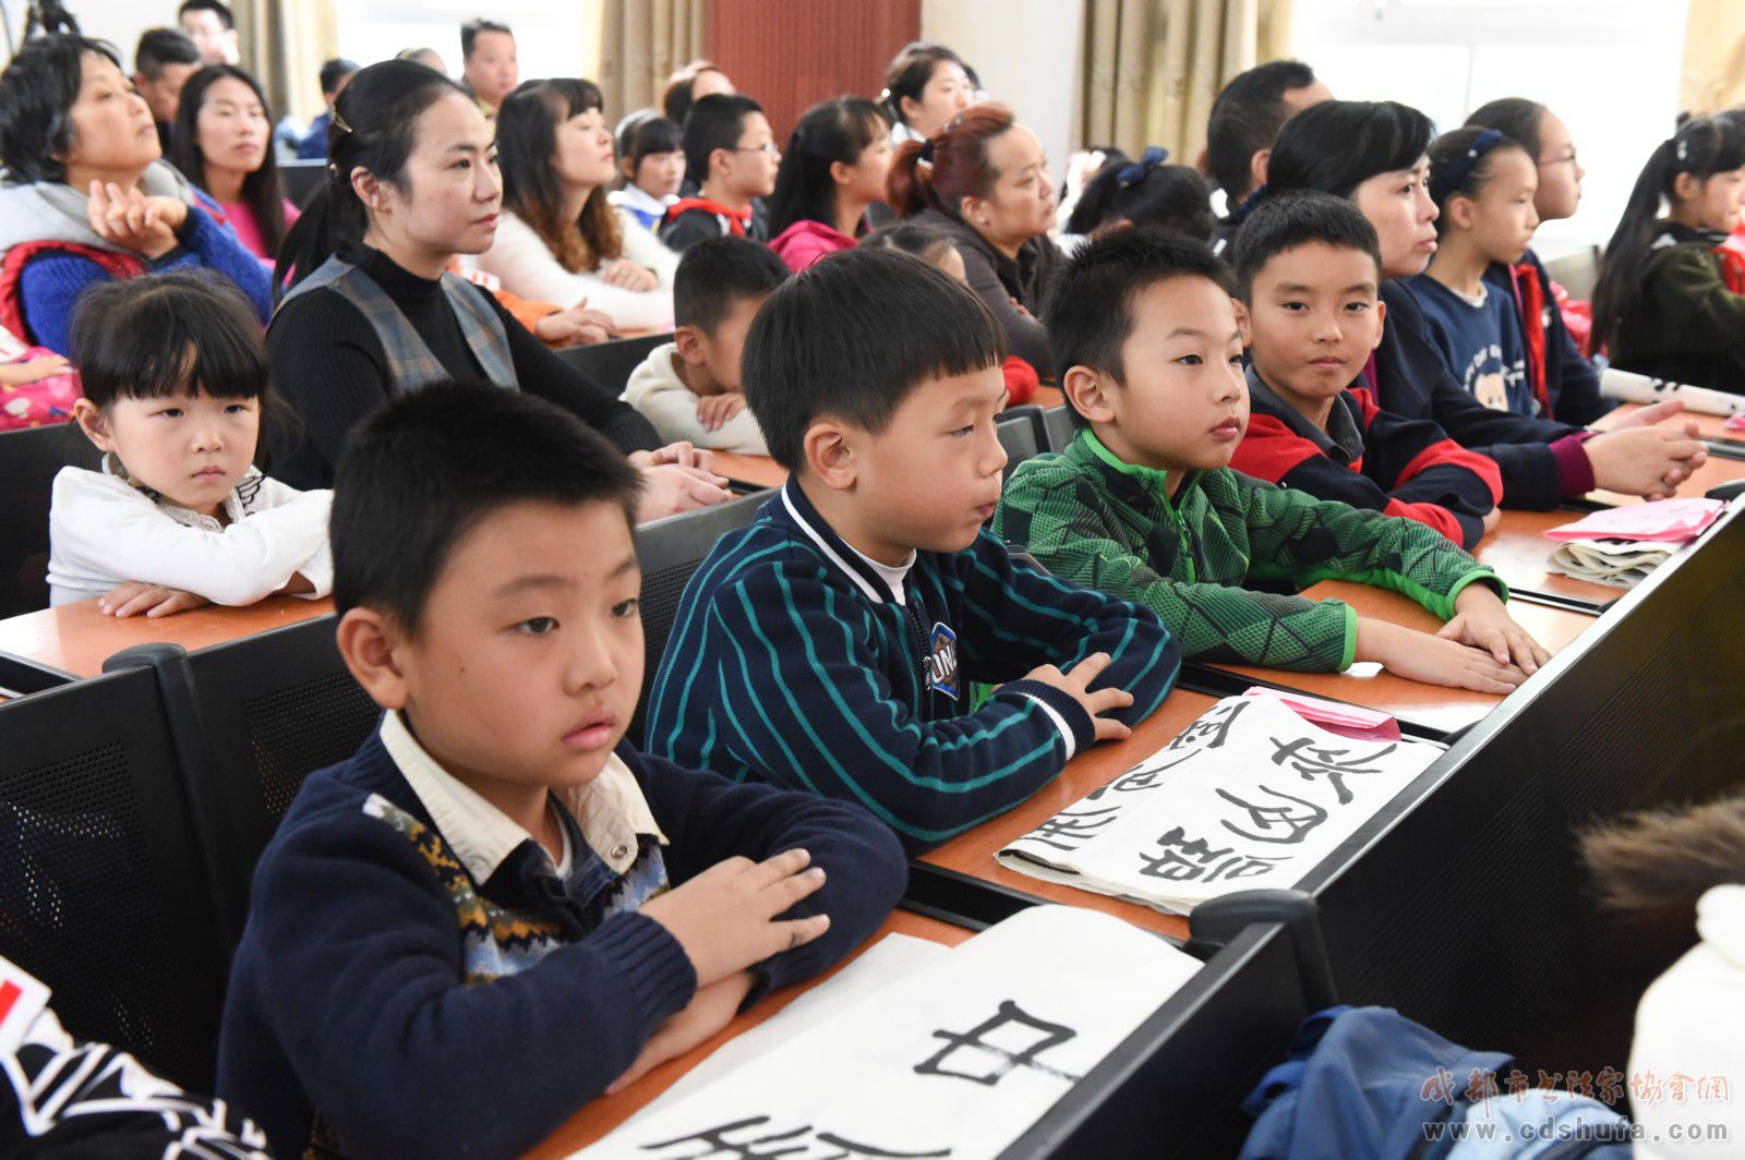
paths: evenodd
<path fill-rule="evenodd" d="M 902 143 L 885 201 L 899 218 L 951 239 L 1010 352 L 1052 379 L 1037 314 L 1066 256 L 1049 237 L 1054 176 L 1037 134 L 1005 105 L 970 105 L 927 141 Z"/>

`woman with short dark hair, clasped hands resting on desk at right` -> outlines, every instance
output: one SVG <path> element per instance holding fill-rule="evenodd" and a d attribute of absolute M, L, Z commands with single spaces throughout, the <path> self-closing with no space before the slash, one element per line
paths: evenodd
<path fill-rule="evenodd" d="M 1436 253 L 1429 195 L 1429 117 L 1398 101 L 1323 101 L 1279 129 L 1267 194 L 1321 190 L 1351 201 L 1382 249 L 1382 345 L 1370 377 L 1382 410 L 1429 419 L 1462 447 L 1502 467 L 1504 508 L 1555 508 L 1595 487 L 1632 495 L 1670 494 L 1703 462 L 1689 431 L 1653 424 L 1677 403 L 1647 406 L 1604 434 L 1485 406 L 1461 386 L 1429 335 L 1405 281 Z"/>

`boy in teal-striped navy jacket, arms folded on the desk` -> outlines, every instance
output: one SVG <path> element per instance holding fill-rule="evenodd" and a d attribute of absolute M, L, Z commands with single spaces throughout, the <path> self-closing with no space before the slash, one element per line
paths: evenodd
<path fill-rule="evenodd" d="M 1000 328 L 892 249 L 780 286 L 745 398 L 792 476 L 691 577 L 649 694 L 649 752 L 866 806 L 920 853 L 1127 736 L 1180 651 L 1150 609 L 1014 562 Z M 972 682 L 1002 687 L 979 708 Z"/>

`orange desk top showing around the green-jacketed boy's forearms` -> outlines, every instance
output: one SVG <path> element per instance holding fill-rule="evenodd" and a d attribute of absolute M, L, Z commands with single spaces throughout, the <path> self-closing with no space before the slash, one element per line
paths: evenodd
<path fill-rule="evenodd" d="M 1382 588 L 1352 584 L 1349 581 L 1323 581 L 1314 588 L 1305 590 L 1304 595 L 1310 600 L 1338 598 L 1356 609 L 1358 616 L 1372 616 L 1393 624 L 1403 624 L 1405 628 L 1417 628 L 1426 633 L 1433 633 L 1441 628 L 1441 623 L 1413 600 Z M 1520 600 L 1509 602 L 1509 616 L 1513 616 L 1522 628 L 1530 631 L 1534 638 L 1551 652 L 1557 652 L 1565 644 L 1574 640 L 1576 635 L 1579 635 L 1581 630 L 1595 619 L 1591 616 L 1583 616 L 1581 612 L 1565 612 L 1562 609 L 1550 609 Z M 1427 686 L 1417 680 L 1406 680 L 1405 677 L 1394 677 L 1387 672 L 1375 672 L 1372 675 L 1359 677 L 1351 672 L 1288 673 L 1276 668 L 1251 668 L 1237 665 L 1225 665 L 1220 668 L 1228 668 L 1230 672 L 1244 677 L 1270 680 L 1272 684 L 1300 689 L 1302 693 L 1310 693 L 1314 696 L 1324 696 L 1335 701 L 1351 701 L 1352 705 L 1363 705 L 1366 708 L 1379 708 L 1386 713 L 1408 717 L 1415 722 L 1447 731 L 1473 724 L 1502 701 L 1501 696 L 1490 693 Z"/>

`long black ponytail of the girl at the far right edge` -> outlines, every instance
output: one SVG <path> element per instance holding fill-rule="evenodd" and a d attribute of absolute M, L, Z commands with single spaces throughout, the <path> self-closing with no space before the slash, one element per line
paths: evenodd
<path fill-rule="evenodd" d="M 1593 288 L 1593 347 L 1618 340 L 1623 321 L 1642 304 L 1642 267 L 1654 244 L 1661 202 L 1670 202 L 1680 173 L 1707 180 L 1745 167 L 1745 127 L 1733 117 L 1687 117 L 1649 154 L 1612 239 L 1605 242 Z"/>

